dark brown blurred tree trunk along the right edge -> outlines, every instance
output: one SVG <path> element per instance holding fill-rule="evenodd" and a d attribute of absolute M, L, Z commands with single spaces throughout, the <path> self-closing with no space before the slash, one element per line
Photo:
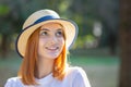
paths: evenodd
<path fill-rule="evenodd" d="M 131 87 L 131 0 L 120 0 L 121 67 L 119 87 Z"/>

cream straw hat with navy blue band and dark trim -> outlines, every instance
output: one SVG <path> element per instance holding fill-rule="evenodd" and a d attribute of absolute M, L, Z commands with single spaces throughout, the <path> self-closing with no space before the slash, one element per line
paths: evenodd
<path fill-rule="evenodd" d="M 78 36 L 78 25 L 70 20 L 60 18 L 52 10 L 39 10 L 34 12 L 24 23 L 21 34 L 16 40 L 16 51 L 21 57 L 25 55 L 25 48 L 28 37 L 41 25 L 56 22 L 64 27 L 66 45 L 70 49 Z"/>

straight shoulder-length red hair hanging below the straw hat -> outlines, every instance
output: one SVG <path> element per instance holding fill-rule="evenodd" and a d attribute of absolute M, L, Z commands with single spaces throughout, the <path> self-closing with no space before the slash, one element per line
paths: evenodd
<path fill-rule="evenodd" d="M 39 28 L 36 29 L 27 40 L 25 55 L 19 71 L 19 76 L 24 85 L 38 85 L 35 80 L 35 73 L 37 70 L 37 50 L 39 39 Z M 67 65 L 67 50 L 66 45 L 60 55 L 55 59 L 52 76 L 62 80 L 66 74 Z"/>

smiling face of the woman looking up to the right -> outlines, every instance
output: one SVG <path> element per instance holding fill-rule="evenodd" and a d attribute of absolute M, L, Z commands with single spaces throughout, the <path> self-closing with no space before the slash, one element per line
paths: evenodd
<path fill-rule="evenodd" d="M 64 46 L 63 27 L 57 23 L 47 23 L 40 27 L 38 57 L 56 59 Z"/>

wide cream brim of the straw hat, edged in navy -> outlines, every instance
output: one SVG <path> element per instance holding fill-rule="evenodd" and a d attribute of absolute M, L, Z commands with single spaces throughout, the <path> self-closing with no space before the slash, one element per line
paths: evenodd
<path fill-rule="evenodd" d="M 66 29 L 64 33 L 67 38 L 66 39 L 67 49 L 70 49 L 72 47 L 72 45 L 74 44 L 74 40 L 78 37 L 78 30 L 79 30 L 78 25 L 73 21 L 62 20 L 62 18 L 44 21 L 38 24 L 31 25 L 29 27 L 23 29 L 22 33 L 19 35 L 16 39 L 16 51 L 22 58 L 25 55 L 25 48 L 26 48 L 27 39 L 29 38 L 29 36 L 38 27 L 50 22 L 60 23 Z"/>

